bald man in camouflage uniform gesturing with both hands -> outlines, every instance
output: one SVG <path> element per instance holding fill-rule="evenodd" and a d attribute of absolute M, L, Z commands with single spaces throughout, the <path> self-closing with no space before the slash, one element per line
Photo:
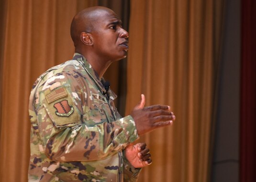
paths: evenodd
<path fill-rule="evenodd" d="M 29 181 L 136 181 L 141 167 L 152 161 L 145 143 L 131 143 L 175 116 L 169 106 L 144 107 L 144 95 L 131 115 L 122 118 L 116 110 L 116 95 L 104 87 L 102 75 L 112 61 L 126 56 L 128 32 L 112 10 L 79 12 L 71 37 L 73 59 L 33 85 Z"/>

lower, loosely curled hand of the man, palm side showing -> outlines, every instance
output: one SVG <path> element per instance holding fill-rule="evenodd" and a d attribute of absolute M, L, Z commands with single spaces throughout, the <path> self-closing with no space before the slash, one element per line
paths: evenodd
<path fill-rule="evenodd" d="M 134 166 L 134 168 L 142 168 L 152 163 L 149 149 L 145 143 L 132 143 L 125 148 L 126 159 Z"/>

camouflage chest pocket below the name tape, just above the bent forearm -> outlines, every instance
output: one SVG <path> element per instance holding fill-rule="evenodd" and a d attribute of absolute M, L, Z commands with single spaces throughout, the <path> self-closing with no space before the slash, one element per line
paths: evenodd
<path fill-rule="evenodd" d="M 114 121 L 114 116 L 108 103 L 102 103 L 98 107 L 87 111 L 83 115 L 83 122 L 85 122 L 89 127 L 111 121 Z"/>

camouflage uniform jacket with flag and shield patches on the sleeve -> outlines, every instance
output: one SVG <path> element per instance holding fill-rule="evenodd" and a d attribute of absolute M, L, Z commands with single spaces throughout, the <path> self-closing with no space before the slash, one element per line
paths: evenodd
<path fill-rule="evenodd" d="M 101 80 L 102 81 L 102 80 Z M 139 169 L 122 149 L 137 138 L 131 116 L 121 118 L 89 62 L 78 54 L 34 83 L 30 95 L 29 182 L 136 181 Z"/>

